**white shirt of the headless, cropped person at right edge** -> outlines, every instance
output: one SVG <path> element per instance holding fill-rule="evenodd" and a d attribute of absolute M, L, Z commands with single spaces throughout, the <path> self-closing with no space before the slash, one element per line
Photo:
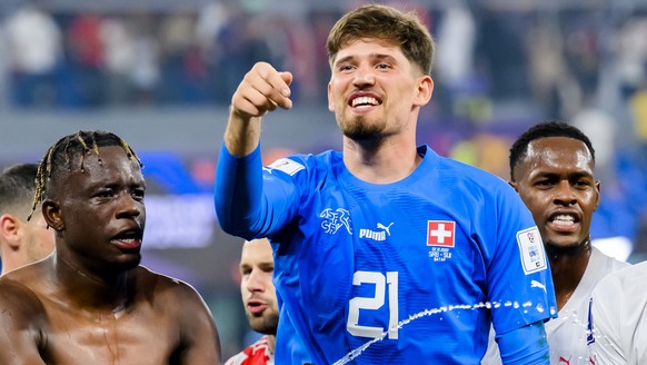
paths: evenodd
<path fill-rule="evenodd" d="M 647 364 L 647 262 L 609 274 L 591 302 L 591 358 L 599 365 Z"/>

